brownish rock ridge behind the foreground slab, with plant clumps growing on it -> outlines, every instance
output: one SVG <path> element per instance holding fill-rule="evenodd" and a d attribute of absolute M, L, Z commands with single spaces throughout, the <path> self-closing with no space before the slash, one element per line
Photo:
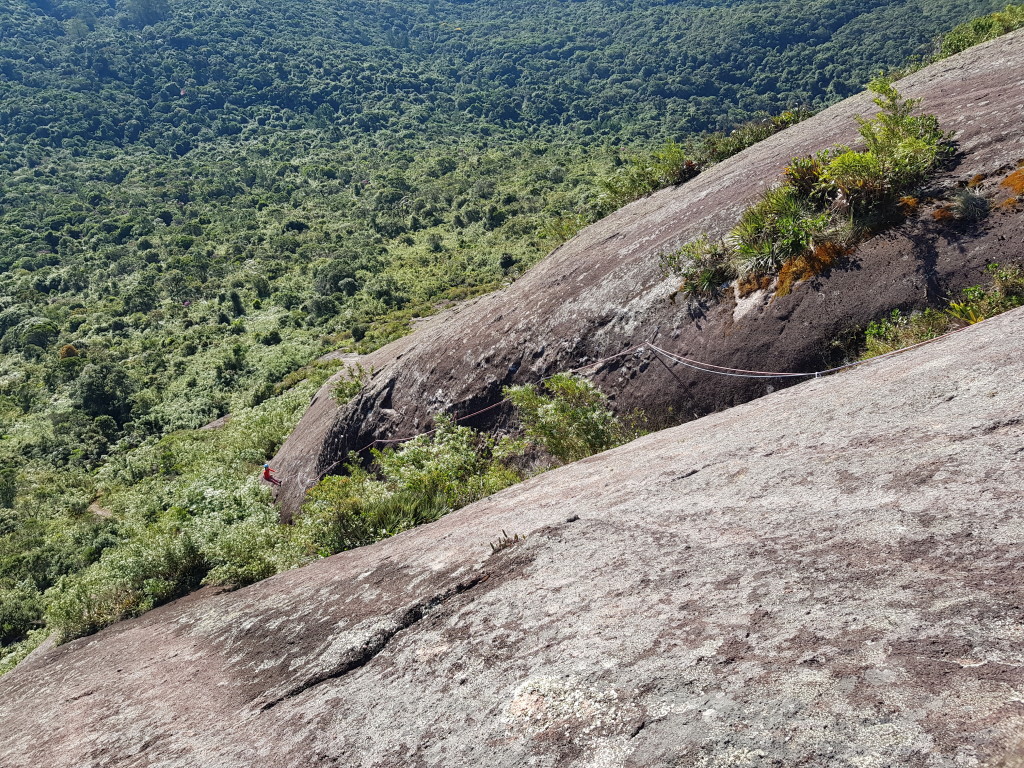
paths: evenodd
<path fill-rule="evenodd" d="M 929 194 L 948 194 L 977 174 L 990 175 L 981 189 L 991 191 L 1024 159 L 1024 33 L 929 67 L 899 87 L 924 98 L 959 142 L 954 167 Z M 1020 209 L 964 228 L 936 222 L 934 206 L 926 205 L 920 218 L 862 246 L 849 268 L 784 298 L 760 293 L 703 310 L 670 301 L 675 282 L 660 272 L 659 254 L 702 231 L 728 231 L 792 158 L 855 141 L 854 117 L 873 112 L 867 95 L 844 101 L 588 227 L 507 289 L 434 317 L 362 360 L 377 375 L 346 408 L 333 401 L 329 383 L 275 459 L 288 478 L 279 497 L 286 518 L 349 451 L 416 434 L 438 413 L 476 412 L 499 401 L 506 385 L 643 341 L 716 365 L 815 371 L 826 366 L 829 342 L 851 328 L 896 307 L 941 303 L 983 283 L 986 262 L 1020 261 Z M 595 382 L 621 412 L 639 408 L 670 424 L 770 391 L 763 381 L 666 367 L 649 353 L 616 359 Z M 506 417 L 497 410 L 467 423 L 494 426 Z"/>

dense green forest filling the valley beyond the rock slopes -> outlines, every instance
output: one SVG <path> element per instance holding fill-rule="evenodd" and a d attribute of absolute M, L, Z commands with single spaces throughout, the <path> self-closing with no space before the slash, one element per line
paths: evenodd
<path fill-rule="evenodd" d="M 0 670 L 293 562 L 254 468 L 318 355 L 1000 5 L 0 0 Z"/>

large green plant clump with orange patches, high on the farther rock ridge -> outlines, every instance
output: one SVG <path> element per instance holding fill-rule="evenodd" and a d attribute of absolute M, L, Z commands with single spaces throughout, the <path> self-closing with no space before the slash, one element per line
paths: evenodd
<path fill-rule="evenodd" d="M 714 298 L 733 279 L 777 275 L 787 264 L 821 251 L 848 252 L 894 220 L 900 201 L 949 155 L 951 135 L 934 115 L 914 115 L 920 99 L 904 98 L 886 80 L 870 85 L 880 112 L 858 118 L 864 147 L 834 146 L 796 158 L 781 184 L 767 189 L 719 241 L 701 234 L 663 255 L 663 269 L 681 278 L 679 293 Z"/>

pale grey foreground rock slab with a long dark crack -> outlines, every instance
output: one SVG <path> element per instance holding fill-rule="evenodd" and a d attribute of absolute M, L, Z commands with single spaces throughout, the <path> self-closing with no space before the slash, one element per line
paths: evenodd
<path fill-rule="evenodd" d="M 1022 414 L 1016 310 L 38 653 L 0 765 L 1024 765 Z"/>

